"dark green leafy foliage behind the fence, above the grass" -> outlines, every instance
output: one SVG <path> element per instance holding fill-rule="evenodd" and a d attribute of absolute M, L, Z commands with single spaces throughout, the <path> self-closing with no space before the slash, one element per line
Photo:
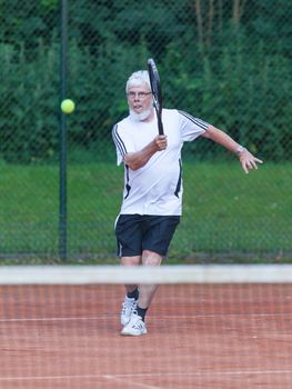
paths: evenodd
<path fill-rule="evenodd" d="M 127 77 L 154 57 L 167 107 L 212 122 L 264 159 L 291 159 L 292 8 L 253 0 L 236 14 L 234 4 L 215 2 L 211 13 L 201 2 L 199 14 L 188 0 L 70 3 L 68 94 L 77 111 L 68 117 L 69 149 L 107 158 L 111 127 L 128 111 Z M 0 11 L 0 157 L 58 158 L 59 2 L 3 1 Z M 197 144 L 187 153 L 207 158 Z"/>

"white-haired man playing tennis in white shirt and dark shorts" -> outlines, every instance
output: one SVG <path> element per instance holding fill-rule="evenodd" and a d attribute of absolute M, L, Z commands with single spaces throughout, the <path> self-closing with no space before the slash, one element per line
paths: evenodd
<path fill-rule="evenodd" d="M 175 109 L 163 109 L 164 136 L 158 126 L 148 71 L 127 81 L 129 116 L 112 130 L 118 164 L 124 164 L 121 211 L 115 222 L 122 266 L 160 266 L 182 212 L 181 149 L 199 137 L 211 139 L 239 157 L 242 169 L 258 169 L 262 161 L 225 132 Z M 147 310 L 158 286 L 125 285 L 121 335 L 147 333 Z"/>

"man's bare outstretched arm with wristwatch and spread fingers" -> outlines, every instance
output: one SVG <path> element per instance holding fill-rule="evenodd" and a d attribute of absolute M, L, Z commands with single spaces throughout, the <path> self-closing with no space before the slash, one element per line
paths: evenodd
<path fill-rule="evenodd" d="M 239 144 L 228 133 L 219 130 L 214 126 L 209 126 L 202 137 L 213 140 L 223 146 L 225 149 L 238 154 L 242 169 L 245 173 L 251 169 L 258 169 L 258 163 L 263 163 L 259 158 L 255 158 L 248 149 Z"/>

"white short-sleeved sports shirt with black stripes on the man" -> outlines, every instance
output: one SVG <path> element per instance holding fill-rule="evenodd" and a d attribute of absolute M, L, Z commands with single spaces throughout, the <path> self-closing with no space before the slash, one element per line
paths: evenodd
<path fill-rule="evenodd" d="M 182 212 L 181 149 L 183 142 L 202 134 L 209 123 L 174 109 L 163 109 L 162 122 L 168 136 L 167 149 L 155 152 L 138 170 L 124 166 L 122 215 L 180 216 Z M 157 134 L 155 117 L 151 122 L 133 121 L 130 117 L 118 122 L 112 130 L 118 164 L 127 153 L 140 151 Z"/>

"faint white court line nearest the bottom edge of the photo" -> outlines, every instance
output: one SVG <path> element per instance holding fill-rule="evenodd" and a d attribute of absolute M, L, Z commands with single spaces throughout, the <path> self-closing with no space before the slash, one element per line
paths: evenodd
<path fill-rule="evenodd" d="M 158 372 L 158 373 L 131 373 L 131 375 L 77 375 L 77 376 L 19 376 L 19 377 L 0 377 L 1 381 L 28 381 L 28 380 L 62 380 L 62 379 L 85 379 L 85 378 L 105 378 L 105 379 L 125 379 L 125 378 L 163 378 L 163 377 L 204 377 L 204 376 L 260 376 L 260 375 L 292 375 L 292 370 L 204 370 L 204 371 L 193 371 L 193 372 Z"/>

